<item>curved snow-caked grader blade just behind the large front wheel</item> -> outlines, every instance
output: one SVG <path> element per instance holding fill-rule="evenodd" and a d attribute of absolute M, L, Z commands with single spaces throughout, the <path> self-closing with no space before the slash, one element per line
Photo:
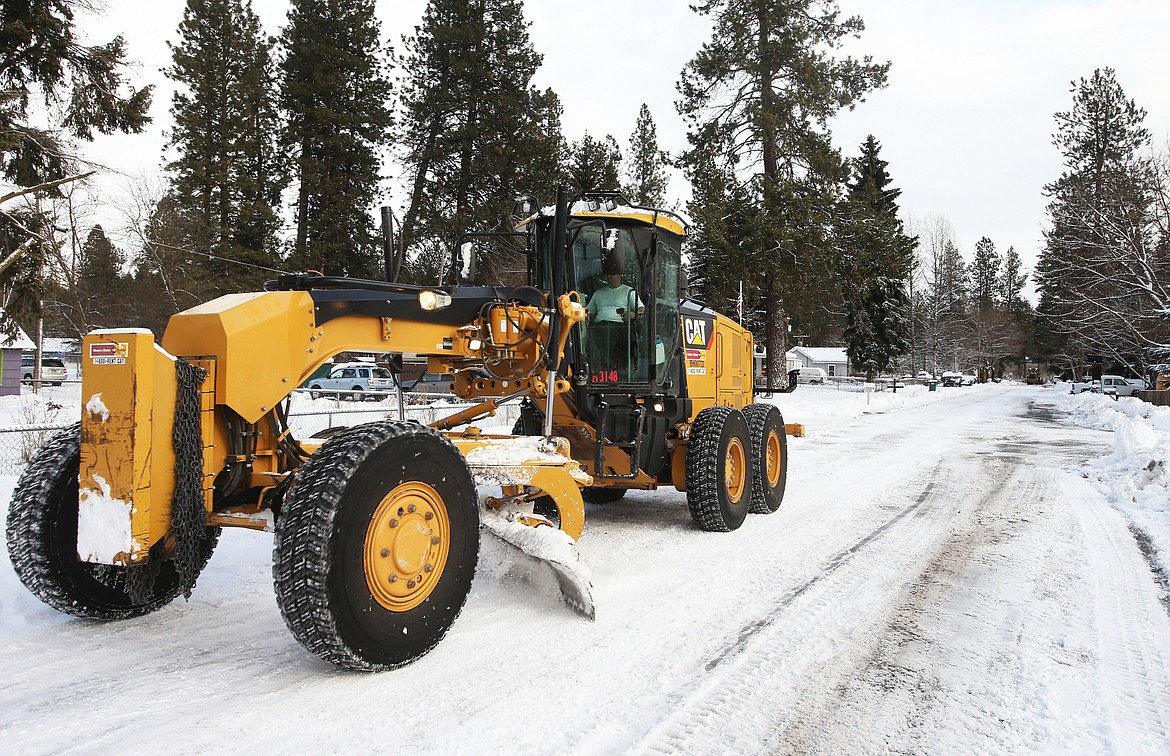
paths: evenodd
<path fill-rule="evenodd" d="M 519 511 L 484 508 L 481 517 L 488 532 L 552 570 L 560 587 L 560 598 L 570 609 L 590 620 L 597 618 L 590 570 L 565 531 L 552 527 L 543 517 Z"/>

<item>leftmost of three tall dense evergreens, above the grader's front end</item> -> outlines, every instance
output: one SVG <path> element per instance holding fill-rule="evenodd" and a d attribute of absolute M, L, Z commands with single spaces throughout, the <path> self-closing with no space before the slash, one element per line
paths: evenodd
<path fill-rule="evenodd" d="M 284 169 L 276 149 L 273 46 L 248 0 L 188 0 L 167 75 L 183 84 L 167 166 L 195 209 L 216 291 L 257 288 L 278 260 Z M 242 264 L 239 264 L 242 263 Z"/>

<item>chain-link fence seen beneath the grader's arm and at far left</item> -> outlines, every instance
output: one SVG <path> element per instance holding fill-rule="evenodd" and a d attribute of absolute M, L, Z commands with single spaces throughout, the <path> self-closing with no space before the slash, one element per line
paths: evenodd
<path fill-rule="evenodd" d="M 406 419 L 429 425 L 460 410 L 475 406 L 469 403 L 454 403 L 452 401 L 454 397 L 448 397 L 446 400 L 434 399 L 435 397 L 442 397 L 442 394 L 428 394 L 428 399 L 433 399 L 431 404 L 405 405 L 402 413 Z M 377 407 L 346 407 L 345 404 L 353 403 L 338 399 L 328 410 L 314 408 L 289 413 L 289 426 L 292 429 L 292 435 L 298 439 L 308 439 L 326 428 L 347 427 L 386 418 L 397 420 L 399 417 L 398 405 L 392 397 Z M 519 403 L 511 401 L 496 410 L 495 417 L 482 418 L 473 425 L 481 428 L 507 426 L 510 431 L 518 417 Z M 19 475 L 25 465 L 54 434 L 70 425 L 73 422 L 42 422 L 0 428 L 0 475 Z"/>

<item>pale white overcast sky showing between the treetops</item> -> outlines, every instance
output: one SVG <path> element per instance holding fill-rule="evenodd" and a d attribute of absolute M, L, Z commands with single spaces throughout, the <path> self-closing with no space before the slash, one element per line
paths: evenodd
<path fill-rule="evenodd" d="M 287 0 L 253 0 L 267 29 L 284 23 Z M 834 124 L 834 142 L 855 154 L 866 135 L 882 144 L 908 215 L 948 218 L 963 254 L 989 236 L 1003 252 L 1014 246 L 1031 268 L 1042 243 L 1041 187 L 1061 171 L 1051 144 L 1053 119 L 1067 110 L 1073 80 L 1112 67 L 1126 92 L 1144 108 L 1155 146 L 1170 137 L 1170 2 L 1166 0 L 839 0 L 860 14 L 866 32 L 854 55 L 892 61 L 889 85 Z M 384 36 L 401 51 L 401 36 L 421 20 L 425 0 L 379 0 Z M 686 146 L 674 109 L 679 73 L 709 35 L 688 0 L 528 0 L 531 39 L 544 55 L 536 84 L 564 104 L 570 140 L 587 130 L 611 133 L 628 149 L 641 103 L 658 124 L 660 146 Z M 109 137 L 87 149 L 125 176 L 158 173 L 168 128 L 170 63 L 184 4 L 108 0 L 82 34 L 104 41 L 124 34 L 138 62 L 133 78 L 157 87 L 147 136 Z M 149 8 L 149 11 L 146 11 Z M 387 176 L 397 169 L 386 167 Z M 401 191 L 388 183 L 391 204 Z M 672 193 L 682 197 L 681 177 Z M 111 192 L 117 187 L 111 186 Z"/>

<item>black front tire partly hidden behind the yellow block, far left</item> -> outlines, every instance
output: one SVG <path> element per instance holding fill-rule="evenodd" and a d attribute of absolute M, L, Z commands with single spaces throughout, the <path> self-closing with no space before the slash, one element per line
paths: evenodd
<path fill-rule="evenodd" d="M 77 558 L 77 470 L 81 426 L 49 439 L 25 468 L 8 507 L 8 557 L 20 582 L 53 609 L 84 619 L 128 619 L 171 603 L 181 590 L 174 562 L 113 566 Z M 219 528 L 207 528 L 199 569 L 207 564 Z M 149 596 L 133 599 L 131 570 L 157 569 Z"/>

